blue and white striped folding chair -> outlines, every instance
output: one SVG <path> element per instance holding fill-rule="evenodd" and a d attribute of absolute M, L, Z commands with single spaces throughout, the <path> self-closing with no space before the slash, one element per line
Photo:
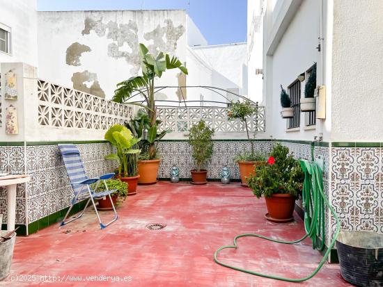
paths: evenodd
<path fill-rule="evenodd" d="M 68 209 L 68 212 L 66 213 L 65 218 L 63 219 L 63 222 L 61 222 L 60 226 L 63 226 L 65 224 L 68 224 L 69 222 L 72 222 L 74 220 L 81 218 L 81 216 L 84 214 L 84 211 L 88 207 L 89 202 L 92 202 L 93 207 L 95 208 L 95 213 L 97 215 L 98 221 L 100 222 L 101 229 L 104 229 L 112 222 L 115 222 L 118 216 L 117 216 L 116 208 L 114 207 L 114 204 L 111 200 L 111 193 L 115 192 L 116 190 L 109 190 L 107 183 L 105 182 L 106 179 L 110 179 L 111 177 L 114 177 L 114 173 L 104 174 L 101 177 L 88 179 L 88 177 L 86 177 L 84 165 L 81 161 L 79 149 L 77 149 L 77 147 L 72 144 L 58 145 L 58 149 L 60 149 L 61 155 L 63 156 L 63 161 L 64 161 L 65 168 L 68 172 L 70 185 L 72 186 L 73 192 L 74 192 L 74 196 L 72 198 L 70 208 Z M 102 192 L 96 192 L 100 181 L 103 181 L 106 190 Z M 96 186 L 94 189 L 92 189 L 90 186 L 92 183 L 96 183 Z M 106 196 L 109 196 L 109 199 L 111 201 L 111 206 L 113 207 L 113 210 L 114 210 L 114 219 L 108 222 L 107 224 L 103 224 L 101 222 L 100 215 L 98 214 L 97 208 L 95 206 L 95 199 L 100 199 Z M 66 218 L 68 218 L 68 215 L 70 211 L 72 210 L 72 207 L 77 202 L 80 202 L 81 200 L 84 200 L 84 199 L 88 199 L 84 210 L 81 211 L 79 215 L 71 218 L 68 221 L 65 221 Z"/>

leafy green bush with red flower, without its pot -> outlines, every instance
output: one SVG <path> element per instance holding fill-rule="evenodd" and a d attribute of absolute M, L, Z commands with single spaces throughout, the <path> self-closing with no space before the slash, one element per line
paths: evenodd
<path fill-rule="evenodd" d="M 260 198 L 262 195 L 271 197 L 274 193 L 286 193 L 297 196 L 302 190 L 304 174 L 302 168 L 291 154 L 288 154 L 288 147 L 280 143 L 274 145 L 270 158 L 265 165 L 256 166 L 256 175 L 251 175 L 247 183 L 254 195 Z"/>

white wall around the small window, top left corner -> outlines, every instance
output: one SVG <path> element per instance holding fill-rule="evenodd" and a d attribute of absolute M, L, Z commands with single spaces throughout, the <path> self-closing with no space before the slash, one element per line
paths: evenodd
<path fill-rule="evenodd" d="M 37 65 L 36 7 L 37 0 L 0 0 L 0 24 L 11 29 L 11 52 L 0 52 L 0 63 Z"/>

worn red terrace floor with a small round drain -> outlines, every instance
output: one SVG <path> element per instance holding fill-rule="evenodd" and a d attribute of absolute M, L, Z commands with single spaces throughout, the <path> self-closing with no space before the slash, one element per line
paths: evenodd
<path fill-rule="evenodd" d="M 56 224 L 29 237 L 18 237 L 10 275 L 38 275 L 36 281 L 32 276 L 22 278 L 30 280 L 23 282 L 24 286 L 350 286 L 335 264 L 326 263 L 313 279 L 293 284 L 214 263 L 214 251 L 231 244 L 240 233 L 285 240 L 304 234 L 302 220 L 296 214 L 297 221 L 276 224 L 263 218 L 265 212 L 264 200 L 256 199 L 239 183 L 192 186 L 159 182 L 139 186 L 139 193 L 118 208 L 119 219 L 107 229 L 100 229 L 94 212 L 88 209 L 83 218 L 61 229 Z M 110 212 L 101 215 L 111 218 Z M 157 231 L 146 229 L 154 222 L 167 226 Z M 239 249 L 222 251 L 220 258 L 260 272 L 305 277 L 322 259 L 311 248 L 310 240 L 294 246 L 259 238 L 240 238 L 238 242 Z M 40 281 L 40 275 L 82 276 L 85 281 L 52 283 Z M 86 281 L 91 275 L 126 276 L 130 281 Z M 21 283 L 3 281 L 0 286 Z"/>

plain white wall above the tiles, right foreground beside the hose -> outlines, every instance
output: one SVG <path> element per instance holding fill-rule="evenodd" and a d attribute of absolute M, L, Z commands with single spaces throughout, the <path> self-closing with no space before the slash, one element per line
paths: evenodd
<path fill-rule="evenodd" d="M 383 1 L 334 1 L 331 140 L 383 138 Z"/>

